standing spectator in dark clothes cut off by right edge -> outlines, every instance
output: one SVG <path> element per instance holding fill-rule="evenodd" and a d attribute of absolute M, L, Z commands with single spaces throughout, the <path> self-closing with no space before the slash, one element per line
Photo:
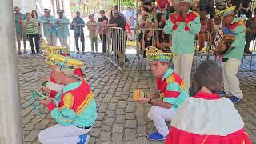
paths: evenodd
<path fill-rule="evenodd" d="M 246 46 L 245 46 L 245 50 L 244 52 L 246 54 L 251 54 L 250 52 L 250 42 L 252 40 L 255 40 L 255 37 L 256 37 L 256 11 L 254 11 L 254 17 L 253 18 L 249 18 L 247 21 L 246 21 L 246 28 L 247 28 L 247 31 L 246 31 Z"/>

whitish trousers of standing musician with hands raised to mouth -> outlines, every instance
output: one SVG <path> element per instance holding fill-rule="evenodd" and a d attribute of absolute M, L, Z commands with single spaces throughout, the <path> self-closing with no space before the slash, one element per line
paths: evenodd
<path fill-rule="evenodd" d="M 177 54 L 174 56 L 174 71 L 186 84 L 186 90 L 190 89 L 190 75 L 194 54 Z"/>

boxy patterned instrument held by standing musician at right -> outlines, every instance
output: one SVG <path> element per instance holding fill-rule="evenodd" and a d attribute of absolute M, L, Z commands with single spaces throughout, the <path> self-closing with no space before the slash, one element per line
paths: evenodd
<path fill-rule="evenodd" d="M 222 28 L 217 31 L 217 34 L 214 38 L 214 43 L 212 46 L 212 50 L 214 50 L 214 54 L 223 55 L 226 54 L 234 42 L 235 35 L 229 28 Z"/>

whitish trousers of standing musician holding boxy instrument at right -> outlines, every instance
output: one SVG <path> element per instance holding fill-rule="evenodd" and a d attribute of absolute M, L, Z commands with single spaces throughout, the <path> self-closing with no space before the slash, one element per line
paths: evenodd
<path fill-rule="evenodd" d="M 240 90 L 240 82 L 236 74 L 241 60 L 237 58 L 229 58 L 227 62 L 222 62 L 222 74 L 224 81 L 224 90 L 227 94 L 232 94 L 238 98 L 242 98 L 242 90 Z"/>

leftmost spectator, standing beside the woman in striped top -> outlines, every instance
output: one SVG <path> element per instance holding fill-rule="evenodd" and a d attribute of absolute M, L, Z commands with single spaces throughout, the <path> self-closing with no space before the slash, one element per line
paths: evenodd
<path fill-rule="evenodd" d="M 22 54 L 21 52 L 21 41 L 23 40 L 24 46 L 24 54 L 26 54 L 26 31 L 25 31 L 25 23 L 23 21 L 26 19 L 25 14 L 20 12 L 20 8 L 18 6 L 14 6 L 14 19 L 15 19 L 15 30 L 16 30 L 16 39 L 18 43 L 18 55 Z"/>

